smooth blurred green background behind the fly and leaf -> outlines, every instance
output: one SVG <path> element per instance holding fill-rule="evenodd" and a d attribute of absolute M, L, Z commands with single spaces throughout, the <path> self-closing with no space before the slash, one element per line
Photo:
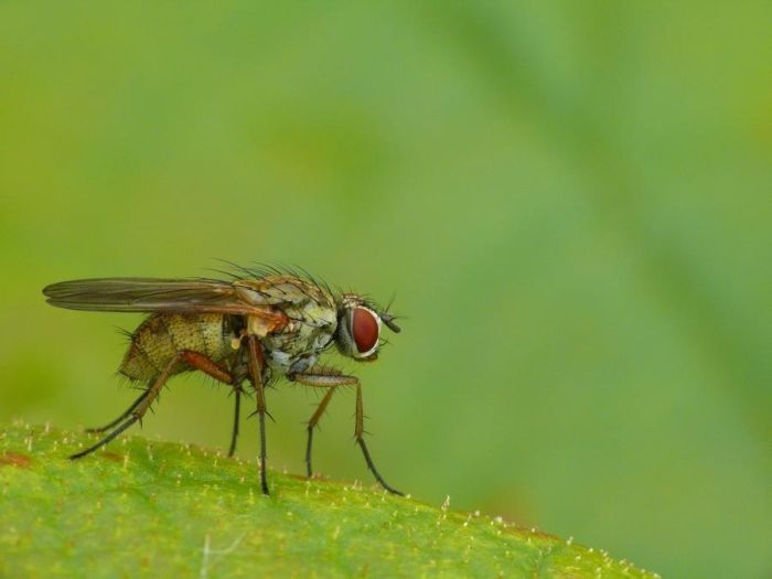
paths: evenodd
<path fill-rule="evenodd" d="M 0 420 L 132 399 L 49 282 L 299 264 L 407 317 L 364 382 L 419 500 L 770 577 L 769 2 L 0 4 Z M 269 393 L 302 472 L 314 393 Z M 143 432 L 225 447 L 180 377 Z M 318 469 L 372 482 L 351 393 Z M 240 454 L 254 458 L 256 423 Z"/>

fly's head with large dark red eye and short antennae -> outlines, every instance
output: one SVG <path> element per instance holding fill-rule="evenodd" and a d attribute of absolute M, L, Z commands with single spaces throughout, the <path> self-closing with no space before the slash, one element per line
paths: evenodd
<path fill-rule="evenodd" d="M 335 345 L 344 356 L 358 362 L 372 362 L 378 357 L 382 344 L 380 329 L 386 325 L 399 333 L 395 317 L 355 293 L 344 293 L 337 307 Z"/>

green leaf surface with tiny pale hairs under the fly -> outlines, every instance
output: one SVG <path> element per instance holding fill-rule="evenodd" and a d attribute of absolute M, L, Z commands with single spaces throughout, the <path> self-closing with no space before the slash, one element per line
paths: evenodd
<path fill-rule="evenodd" d="M 190 444 L 0 431 L 0 577 L 656 577 L 479 513 L 270 472 Z"/>

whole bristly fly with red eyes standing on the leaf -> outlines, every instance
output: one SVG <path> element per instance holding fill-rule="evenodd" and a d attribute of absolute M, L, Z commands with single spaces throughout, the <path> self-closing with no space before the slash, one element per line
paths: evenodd
<path fill-rule="evenodd" d="M 119 372 L 144 384 L 142 394 L 109 423 L 88 429 L 106 433 L 69 457 L 81 459 L 140 421 L 163 385 L 184 372 L 203 372 L 234 389 L 234 426 L 228 455 L 236 451 L 244 384 L 251 387 L 260 432 L 260 486 L 266 471 L 266 385 L 279 377 L 324 390 L 307 426 L 305 468 L 312 476 L 313 431 L 341 386 L 356 389 L 354 436 L 375 479 L 390 486 L 375 468 L 364 439 L 362 386 L 356 376 L 322 365 L 319 356 L 333 344 L 344 356 L 374 361 L 380 331 L 399 326 L 388 309 L 356 293 L 335 292 L 311 276 L 275 268 L 239 268 L 230 280 L 97 278 L 53 283 L 47 302 L 71 310 L 146 312 L 135 330 Z"/>

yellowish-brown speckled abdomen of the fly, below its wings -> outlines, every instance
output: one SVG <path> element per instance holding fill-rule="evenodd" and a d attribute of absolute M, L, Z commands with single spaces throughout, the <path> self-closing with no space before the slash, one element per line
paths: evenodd
<path fill-rule="evenodd" d="M 152 380 L 184 350 L 221 362 L 233 353 L 233 337 L 218 313 L 154 313 L 132 334 L 119 372 L 131 379 Z M 185 369 L 180 365 L 173 374 Z"/>

